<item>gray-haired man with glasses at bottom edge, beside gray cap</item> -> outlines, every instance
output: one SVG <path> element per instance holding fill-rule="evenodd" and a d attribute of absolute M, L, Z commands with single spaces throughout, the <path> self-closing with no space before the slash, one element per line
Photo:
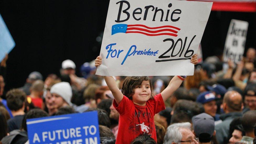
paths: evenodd
<path fill-rule="evenodd" d="M 198 144 L 198 138 L 195 138 L 191 131 L 189 122 L 175 123 L 167 127 L 164 144 L 179 144 L 181 142 Z"/>

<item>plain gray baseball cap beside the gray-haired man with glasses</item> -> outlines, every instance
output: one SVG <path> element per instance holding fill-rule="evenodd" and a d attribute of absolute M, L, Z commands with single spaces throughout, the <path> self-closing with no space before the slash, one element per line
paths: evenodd
<path fill-rule="evenodd" d="M 209 134 L 212 137 L 215 129 L 214 118 L 212 116 L 206 113 L 195 115 L 192 118 L 192 122 L 197 137 L 202 133 Z"/>

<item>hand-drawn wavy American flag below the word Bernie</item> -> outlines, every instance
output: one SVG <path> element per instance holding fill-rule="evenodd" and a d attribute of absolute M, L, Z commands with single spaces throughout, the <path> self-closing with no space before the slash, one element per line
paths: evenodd
<path fill-rule="evenodd" d="M 169 35 L 178 36 L 177 33 L 180 28 L 171 25 L 164 25 L 158 27 L 148 27 L 142 24 L 115 24 L 112 25 L 112 33 L 139 33 L 147 36 Z"/>

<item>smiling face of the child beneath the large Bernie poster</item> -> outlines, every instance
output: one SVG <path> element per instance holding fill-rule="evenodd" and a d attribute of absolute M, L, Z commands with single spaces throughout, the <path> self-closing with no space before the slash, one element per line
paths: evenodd
<path fill-rule="evenodd" d="M 141 85 L 134 89 L 134 95 L 132 95 L 133 103 L 141 106 L 145 106 L 146 102 L 151 97 L 151 89 L 149 81 L 142 81 Z"/>

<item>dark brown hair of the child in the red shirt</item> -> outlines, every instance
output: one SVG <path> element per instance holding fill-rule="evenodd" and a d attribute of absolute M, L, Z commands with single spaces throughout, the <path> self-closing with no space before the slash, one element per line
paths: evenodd
<path fill-rule="evenodd" d="M 148 76 L 132 76 L 126 77 L 122 86 L 122 94 L 127 98 L 132 100 L 132 95 L 134 95 L 134 89 L 141 85 L 143 81 L 149 81 L 150 90 L 151 90 L 151 98 L 152 95 L 152 84 L 151 80 Z"/>

